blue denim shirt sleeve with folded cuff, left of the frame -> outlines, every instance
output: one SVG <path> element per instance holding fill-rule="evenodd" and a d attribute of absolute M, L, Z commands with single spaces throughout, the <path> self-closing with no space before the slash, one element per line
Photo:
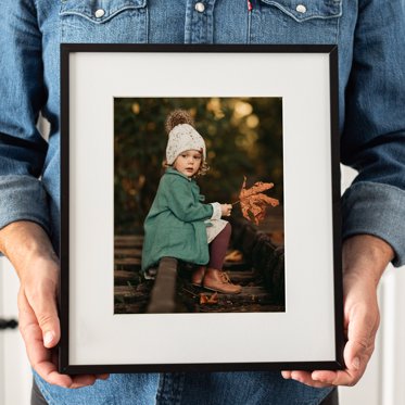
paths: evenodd
<path fill-rule="evenodd" d="M 48 143 L 36 128 L 47 98 L 42 38 L 29 0 L 7 1 L 2 13 L 0 228 L 16 220 L 31 220 L 49 232 L 47 192 L 40 181 Z"/>

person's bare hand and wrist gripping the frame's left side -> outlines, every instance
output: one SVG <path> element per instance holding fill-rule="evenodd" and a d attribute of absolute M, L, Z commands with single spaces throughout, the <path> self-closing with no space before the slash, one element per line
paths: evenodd
<path fill-rule="evenodd" d="M 67 376 L 58 372 L 60 266 L 43 229 L 29 222 L 11 224 L 0 231 L 0 250 L 9 257 L 21 280 L 20 331 L 29 362 L 38 375 L 47 382 L 64 388 L 91 385 L 98 378 L 107 378 L 107 375 Z"/>

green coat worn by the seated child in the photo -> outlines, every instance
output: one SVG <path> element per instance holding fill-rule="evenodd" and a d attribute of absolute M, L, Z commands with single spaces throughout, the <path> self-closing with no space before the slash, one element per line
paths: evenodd
<path fill-rule="evenodd" d="M 144 222 L 142 270 L 164 256 L 199 265 L 208 263 L 204 222 L 212 217 L 213 206 L 202 201 L 204 195 L 193 179 L 167 168 Z"/>

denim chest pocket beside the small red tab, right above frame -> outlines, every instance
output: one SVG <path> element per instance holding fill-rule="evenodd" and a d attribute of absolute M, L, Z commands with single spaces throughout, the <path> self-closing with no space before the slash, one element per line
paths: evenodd
<path fill-rule="evenodd" d="M 258 0 L 251 43 L 337 43 L 342 0 Z"/>

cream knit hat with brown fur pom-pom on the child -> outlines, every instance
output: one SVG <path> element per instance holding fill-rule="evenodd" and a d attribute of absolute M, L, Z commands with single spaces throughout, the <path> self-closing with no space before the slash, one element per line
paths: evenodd
<path fill-rule="evenodd" d="M 187 111 L 176 110 L 166 121 L 168 141 L 166 147 L 166 162 L 172 165 L 177 156 L 188 150 L 197 150 L 202 153 L 203 161 L 206 157 L 205 142 L 202 136 L 193 127 L 193 121 Z"/>

